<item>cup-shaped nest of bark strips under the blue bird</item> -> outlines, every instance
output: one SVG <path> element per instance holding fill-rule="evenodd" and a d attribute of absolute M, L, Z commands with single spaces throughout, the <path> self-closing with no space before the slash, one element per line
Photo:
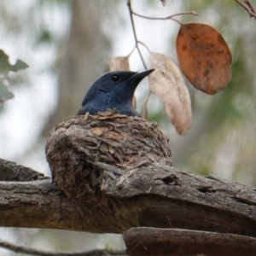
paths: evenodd
<path fill-rule="evenodd" d="M 49 133 L 46 155 L 55 183 L 78 201 L 127 173 L 172 165 L 169 139 L 155 123 L 114 111 L 57 125 Z"/>

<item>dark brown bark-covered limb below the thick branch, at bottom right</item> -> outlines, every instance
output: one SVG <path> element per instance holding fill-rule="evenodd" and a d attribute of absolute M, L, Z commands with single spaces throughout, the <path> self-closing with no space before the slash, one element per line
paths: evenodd
<path fill-rule="evenodd" d="M 133 228 L 124 234 L 130 256 L 254 255 L 256 239 L 195 230 Z"/>

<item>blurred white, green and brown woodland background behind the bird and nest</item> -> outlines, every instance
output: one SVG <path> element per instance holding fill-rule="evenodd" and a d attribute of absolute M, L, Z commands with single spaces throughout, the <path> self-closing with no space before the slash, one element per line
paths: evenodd
<path fill-rule="evenodd" d="M 251 2 L 256 8 L 256 1 Z M 194 10 L 197 17 L 186 15 L 178 20 L 205 23 L 223 35 L 233 54 L 232 80 L 215 96 L 195 90 L 187 81 L 193 108 L 188 135 L 177 135 L 155 96 L 148 103 L 149 119 L 170 137 L 174 166 L 255 185 L 256 20 L 234 0 L 167 0 L 166 8 L 158 0 L 132 3 L 138 13 L 151 16 Z M 177 62 L 177 23 L 137 17 L 135 22 L 138 38 L 149 49 Z M 126 1 L 3 0 L 0 37 L 0 49 L 11 63 L 19 58 L 30 66 L 10 73 L 15 98 L 0 104 L 0 157 L 49 175 L 44 158 L 49 129 L 77 113 L 85 91 L 107 70 L 110 58 L 128 55 L 134 46 Z M 142 50 L 147 60 L 147 51 Z M 131 69 L 143 69 L 137 53 L 131 55 Z M 139 109 L 147 91 L 145 82 L 138 87 Z M 1 229 L 0 236 L 34 247 L 71 251 L 123 246 L 119 236 L 63 230 Z"/>

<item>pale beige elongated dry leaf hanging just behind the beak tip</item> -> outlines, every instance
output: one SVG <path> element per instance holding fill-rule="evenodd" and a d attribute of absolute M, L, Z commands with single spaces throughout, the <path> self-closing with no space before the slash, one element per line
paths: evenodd
<path fill-rule="evenodd" d="M 154 73 L 148 76 L 150 90 L 160 98 L 177 132 L 185 135 L 191 126 L 189 90 L 176 64 L 166 55 L 150 52 Z"/>

